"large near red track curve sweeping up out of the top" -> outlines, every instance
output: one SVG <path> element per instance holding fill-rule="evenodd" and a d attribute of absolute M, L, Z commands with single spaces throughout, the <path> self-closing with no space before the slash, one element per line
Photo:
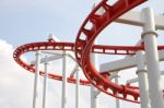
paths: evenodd
<path fill-rule="evenodd" d="M 102 0 L 82 24 L 75 40 L 75 57 L 86 79 L 99 91 L 133 103 L 139 103 L 139 92 L 125 85 L 117 85 L 102 76 L 90 60 L 90 52 L 92 51 L 95 38 L 108 24 L 144 1 L 147 0 L 118 0 L 115 4 L 109 5 L 107 4 L 107 0 Z M 96 14 L 101 8 L 105 12 L 102 15 Z M 87 23 L 92 23 L 91 29 L 86 28 Z M 81 45 L 83 46 L 81 47 Z M 129 98 L 128 95 L 133 98 Z"/>

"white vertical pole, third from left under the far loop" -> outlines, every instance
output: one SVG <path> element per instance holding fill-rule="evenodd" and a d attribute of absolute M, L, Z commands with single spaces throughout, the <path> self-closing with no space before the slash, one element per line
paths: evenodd
<path fill-rule="evenodd" d="M 61 108 L 66 108 L 67 105 L 67 73 L 66 73 L 66 65 L 67 64 L 67 56 L 66 51 L 63 51 L 62 58 L 62 98 L 61 98 Z"/>

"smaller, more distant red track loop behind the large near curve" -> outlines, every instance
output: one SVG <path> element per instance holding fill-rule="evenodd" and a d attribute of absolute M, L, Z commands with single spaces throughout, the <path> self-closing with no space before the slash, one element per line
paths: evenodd
<path fill-rule="evenodd" d="M 115 53 L 117 53 L 117 55 L 134 55 L 136 50 L 141 50 L 141 49 L 143 49 L 143 47 L 95 45 L 92 48 L 92 52 L 105 53 L 105 55 L 115 55 Z M 13 58 L 22 68 L 26 69 L 30 72 L 35 72 L 35 68 L 32 64 L 28 64 L 25 61 L 23 61 L 21 59 L 21 56 L 25 52 L 36 51 L 36 50 L 70 50 L 70 51 L 74 51 L 74 44 L 73 43 L 49 43 L 49 41 L 25 44 L 15 49 L 15 51 L 13 52 Z M 40 71 L 39 74 L 43 76 L 44 72 Z M 58 74 L 49 73 L 48 77 L 58 80 L 58 81 L 62 81 L 62 76 L 58 75 Z M 68 82 L 75 83 L 75 79 L 68 77 Z M 90 82 L 85 81 L 85 80 L 81 80 L 80 84 L 89 85 Z"/>

